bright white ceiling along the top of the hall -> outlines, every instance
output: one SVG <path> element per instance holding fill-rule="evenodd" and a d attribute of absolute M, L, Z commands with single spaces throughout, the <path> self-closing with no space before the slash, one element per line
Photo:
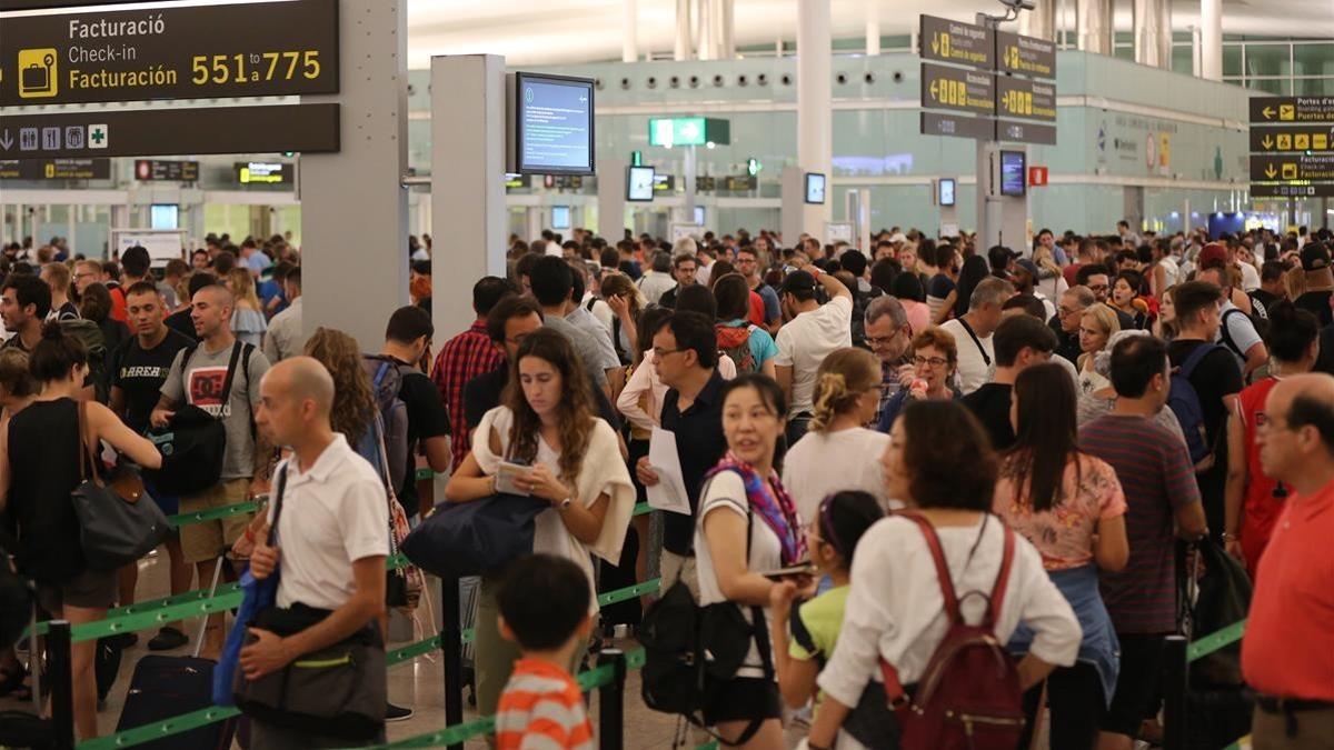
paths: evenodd
<path fill-rule="evenodd" d="M 675 0 L 636 0 L 639 56 L 670 53 Z M 971 21 L 1002 9 L 988 0 L 831 0 L 834 39 L 862 39 L 868 5 L 878 8 L 883 36 L 916 29 L 931 13 Z M 1062 27 L 1073 28 L 1075 0 L 1058 0 Z M 1130 31 L 1130 0 L 1115 0 L 1117 29 Z M 408 65 L 430 67 L 432 55 L 494 53 L 511 64 L 619 60 L 624 0 L 408 0 Z M 1173 1 L 1173 28 L 1199 23 L 1199 0 Z M 1014 28 L 1017 24 L 1011 24 Z M 796 39 L 796 0 L 735 0 L 736 45 Z M 1334 39 L 1334 0 L 1223 0 L 1223 33 Z"/>

